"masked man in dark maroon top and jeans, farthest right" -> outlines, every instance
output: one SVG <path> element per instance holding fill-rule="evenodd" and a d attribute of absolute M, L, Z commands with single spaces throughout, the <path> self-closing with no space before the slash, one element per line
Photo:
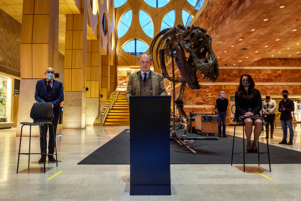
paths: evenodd
<path fill-rule="evenodd" d="M 290 100 L 288 96 L 288 91 L 283 90 L 282 91 L 283 99 L 279 102 L 278 111 L 281 112 L 280 115 L 280 121 L 283 131 L 283 138 L 282 141 L 279 142 L 279 144 L 287 144 L 292 145 L 293 140 L 293 129 L 292 129 L 292 117 L 291 112 L 294 111 L 294 104 L 293 101 Z M 289 141 L 286 141 L 287 138 L 287 127 L 289 129 Z"/>

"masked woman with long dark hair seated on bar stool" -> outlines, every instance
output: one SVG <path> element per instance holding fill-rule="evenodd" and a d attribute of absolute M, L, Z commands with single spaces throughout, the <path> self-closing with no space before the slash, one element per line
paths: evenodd
<path fill-rule="evenodd" d="M 235 92 L 235 118 L 237 122 L 245 123 L 247 137 L 247 152 L 257 153 L 256 142 L 262 131 L 262 100 L 259 90 L 255 89 L 255 83 L 249 74 L 240 77 L 238 90 Z M 251 145 L 251 134 L 254 127 L 254 140 Z"/>

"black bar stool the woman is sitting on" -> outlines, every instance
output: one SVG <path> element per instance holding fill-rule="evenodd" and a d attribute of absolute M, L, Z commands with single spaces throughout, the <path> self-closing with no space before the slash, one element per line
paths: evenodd
<path fill-rule="evenodd" d="M 263 126 L 265 126 L 265 135 L 268 136 L 266 127 L 268 126 L 267 122 L 263 122 L 262 123 Z M 236 126 L 242 126 L 242 133 L 243 133 L 243 137 L 242 137 L 242 146 L 243 146 L 243 152 L 239 152 L 239 153 L 234 153 L 234 140 L 235 140 L 235 129 Z M 244 136 L 245 136 L 245 132 L 244 132 L 244 127 L 245 127 L 245 123 L 241 123 L 241 122 L 237 122 L 237 124 L 234 126 L 234 134 L 233 134 L 233 144 L 232 144 L 232 156 L 231 156 L 231 166 L 233 164 L 233 155 L 234 154 L 243 154 L 243 171 L 245 172 L 245 154 L 248 152 L 245 152 L 245 142 L 244 142 Z M 268 164 L 269 164 L 269 168 L 270 168 L 270 172 L 271 172 L 271 162 L 270 162 L 270 156 L 269 156 L 269 149 L 268 149 L 268 137 L 266 138 L 266 146 L 267 146 L 267 152 L 260 152 L 259 151 L 259 139 L 257 140 L 257 149 L 258 152 L 257 153 L 253 153 L 253 154 L 258 154 L 258 166 L 260 166 L 260 154 L 264 154 L 266 153 L 268 156 Z"/>

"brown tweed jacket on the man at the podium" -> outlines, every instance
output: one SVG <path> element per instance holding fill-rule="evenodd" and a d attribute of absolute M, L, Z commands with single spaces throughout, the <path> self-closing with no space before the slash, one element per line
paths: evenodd
<path fill-rule="evenodd" d="M 125 94 L 125 98 L 128 103 L 129 103 L 129 96 L 140 95 L 140 79 L 141 79 L 141 71 L 129 75 L 126 94 Z M 153 96 L 159 96 L 159 95 L 167 96 L 163 75 L 157 72 L 150 71 L 147 79 L 149 79 L 148 82 L 152 82 Z"/>

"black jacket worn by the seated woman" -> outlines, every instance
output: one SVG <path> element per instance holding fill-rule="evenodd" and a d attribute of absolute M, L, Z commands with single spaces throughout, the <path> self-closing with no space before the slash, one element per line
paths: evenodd
<path fill-rule="evenodd" d="M 260 114 L 260 110 L 262 108 L 262 99 L 259 90 L 256 90 L 256 96 L 250 100 L 247 100 L 247 98 L 238 97 L 238 91 L 235 92 L 235 119 L 238 119 L 239 116 L 248 112 L 249 108 L 251 108 L 254 115 Z M 244 95 L 246 96 L 247 92 L 244 92 Z"/>

